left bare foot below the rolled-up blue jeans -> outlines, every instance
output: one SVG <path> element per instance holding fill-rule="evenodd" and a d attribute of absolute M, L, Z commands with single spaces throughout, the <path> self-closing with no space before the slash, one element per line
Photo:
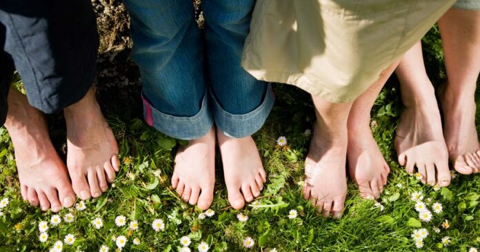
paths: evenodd
<path fill-rule="evenodd" d="M 188 141 L 175 157 L 172 187 L 184 202 L 207 210 L 213 201 L 215 184 L 215 130 Z"/>

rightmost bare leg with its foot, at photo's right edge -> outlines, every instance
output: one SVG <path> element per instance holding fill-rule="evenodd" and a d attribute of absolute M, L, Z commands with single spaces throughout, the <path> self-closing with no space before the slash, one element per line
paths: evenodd
<path fill-rule="evenodd" d="M 459 173 L 479 173 L 474 93 L 480 72 L 480 11 L 450 9 L 438 23 L 448 75 L 440 92 L 448 155 Z"/>

